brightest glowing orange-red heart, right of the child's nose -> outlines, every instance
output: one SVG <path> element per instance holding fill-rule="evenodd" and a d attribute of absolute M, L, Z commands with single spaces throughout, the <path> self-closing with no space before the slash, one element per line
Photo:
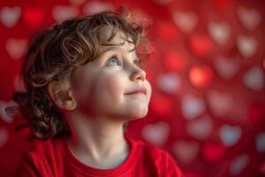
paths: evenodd
<path fill-rule="evenodd" d="M 193 66 L 189 72 L 189 80 L 195 87 L 205 88 L 214 78 L 214 72 L 208 65 Z"/>

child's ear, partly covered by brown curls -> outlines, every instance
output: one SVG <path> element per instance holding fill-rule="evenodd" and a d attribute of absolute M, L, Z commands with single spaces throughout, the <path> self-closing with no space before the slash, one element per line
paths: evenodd
<path fill-rule="evenodd" d="M 72 111 L 76 108 L 77 104 L 70 84 L 59 83 L 59 81 L 50 81 L 47 91 L 58 108 L 67 111 Z"/>

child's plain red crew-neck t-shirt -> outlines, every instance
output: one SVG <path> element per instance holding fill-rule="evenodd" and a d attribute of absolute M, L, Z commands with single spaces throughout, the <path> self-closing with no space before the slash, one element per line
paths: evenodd
<path fill-rule="evenodd" d="M 179 177 L 183 176 L 173 158 L 165 150 L 135 141 L 125 135 L 130 144 L 129 156 L 122 165 L 112 169 L 97 169 L 85 165 L 72 155 L 64 138 L 36 142 L 21 158 L 15 176 L 106 176 L 106 177 Z"/>

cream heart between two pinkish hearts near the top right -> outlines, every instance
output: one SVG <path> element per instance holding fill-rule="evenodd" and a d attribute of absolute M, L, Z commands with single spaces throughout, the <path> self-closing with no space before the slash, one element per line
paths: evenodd
<path fill-rule="evenodd" d="M 208 25 L 208 33 L 214 42 L 224 45 L 231 35 L 231 28 L 225 22 L 211 22 Z"/>

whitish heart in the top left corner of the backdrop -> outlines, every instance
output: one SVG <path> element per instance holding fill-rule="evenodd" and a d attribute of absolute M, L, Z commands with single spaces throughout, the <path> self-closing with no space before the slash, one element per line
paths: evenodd
<path fill-rule="evenodd" d="M 5 27 L 14 27 L 20 16 L 21 8 L 19 6 L 3 7 L 0 13 L 0 19 Z"/>

